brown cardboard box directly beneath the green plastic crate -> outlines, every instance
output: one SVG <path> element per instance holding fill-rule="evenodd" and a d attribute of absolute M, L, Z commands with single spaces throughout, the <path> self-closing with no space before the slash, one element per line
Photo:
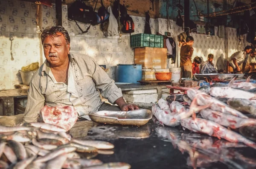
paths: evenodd
<path fill-rule="evenodd" d="M 166 48 L 134 48 L 134 64 L 142 65 L 143 69 L 166 69 Z"/>

